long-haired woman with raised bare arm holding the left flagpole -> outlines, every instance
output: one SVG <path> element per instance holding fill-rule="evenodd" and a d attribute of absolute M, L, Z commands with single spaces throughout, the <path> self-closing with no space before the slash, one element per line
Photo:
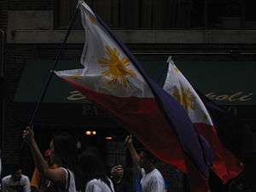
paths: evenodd
<path fill-rule="evenodd" d="M 49 143 L 49 149 L 53 153 L 55 164 L 59 167 L 51 169 L 44 160 L 38 144 L 34 139 L 34 132 L 31 127 L 26 127 L 23 132 L 23 139 L 31 149 L 32 157 L 38 172 L 51 181 L 51 189 L 56 192 L 76 192 L 75 177 L 77 174 L 76 168 L 76 144 L 68 133 L 55 135 Z M 78 181 L 78 179 L 76 180 Z"/>

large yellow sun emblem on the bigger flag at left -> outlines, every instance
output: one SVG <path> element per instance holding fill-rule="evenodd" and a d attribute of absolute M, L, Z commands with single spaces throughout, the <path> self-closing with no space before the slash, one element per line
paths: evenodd
<path fill-rule="evenodd" d="M 109 46 L 105 47 L 109 58 L 102 58 L 98 62 L 102 67 L 108 67 L 107 71 L 102 72 L 102 75 L 109 77 L 110 83 L 120 83 L 125 87 L 129 84 L 128 77 L 136 77 L 136 73 L 127 68 L 130 64 L 128 58 L 119 58 L 120 53 L 117 49 L 111 49 Z"/>

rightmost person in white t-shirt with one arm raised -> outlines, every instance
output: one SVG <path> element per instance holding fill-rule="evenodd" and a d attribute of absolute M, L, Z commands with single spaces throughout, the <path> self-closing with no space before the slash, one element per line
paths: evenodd
<path fill-rule="evenodd" d="M 132 144 L 132 137 L 128 136 L 125 139 L 127 148 L 131 153 L 133 164 L 137 166 L 137 169 L 142 174 L 141 187 L 143 192 L 164 192 L 165 180 L 162 177 L 159 170 L 154 166 L 153 154 L 150 154 L 147 150 L 141 150 L 140 154 L 137 154 L 136 149 Z"/>

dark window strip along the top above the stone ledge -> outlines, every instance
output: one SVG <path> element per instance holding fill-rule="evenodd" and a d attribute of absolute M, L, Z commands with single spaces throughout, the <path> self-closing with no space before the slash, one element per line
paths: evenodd
<path fill-rule="evenodd" d="M 256 27 L 253 0 L 87 0 L 114 29 L 240 29 Z M 76 7 L 55 0 L 55 27 L 66 28 Z M 75 28 L 81 28 L 79 16 Z"/>

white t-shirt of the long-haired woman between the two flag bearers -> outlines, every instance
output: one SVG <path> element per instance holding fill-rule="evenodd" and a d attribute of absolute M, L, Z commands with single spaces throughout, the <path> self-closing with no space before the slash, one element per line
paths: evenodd
<path fill-rule="evenodd" d="M 108 187 L 108 184 L 102 182 L 101 179 L 95 178 L 86 184 L 85 192 L 114 192 L 113 183 L 110 179 L 108 180 L 112 190 Z"/>

